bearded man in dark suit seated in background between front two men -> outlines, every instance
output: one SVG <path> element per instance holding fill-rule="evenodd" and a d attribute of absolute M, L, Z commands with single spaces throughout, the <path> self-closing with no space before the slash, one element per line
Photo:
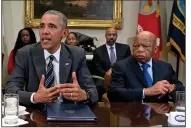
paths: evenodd
<path fill-rule="evenodd" d="M 125 59 L 131 54 L 130 47 L 126 44 L 116 43 L 117 31 L 115 28 L 108 28 L 105 33 L 106 44 L 93 51 L 94 75 L 104 77 L 106 72 L 111 71 L 112 65 Z M 96 80 L 95 84 L 99 93 L 99 99 L 105 93 L 104 81 Z"/>

